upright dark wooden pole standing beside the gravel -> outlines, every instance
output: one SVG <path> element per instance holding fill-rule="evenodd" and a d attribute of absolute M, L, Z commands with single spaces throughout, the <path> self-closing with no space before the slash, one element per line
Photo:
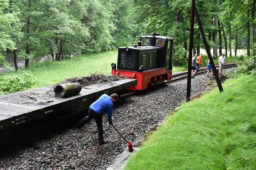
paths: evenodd
<path fill-rule="evenodd" d="M 189 30 L 189 50 L 188 50 L 188 78 L 187 78 L 187 101 L 190 101 L 191 93 L 191 65 L 192 65 L 192 50 L 194 40 L 194 22 L 195 22 L 195 4 L 196 0 L 191 3 L 190 30 Z"/>

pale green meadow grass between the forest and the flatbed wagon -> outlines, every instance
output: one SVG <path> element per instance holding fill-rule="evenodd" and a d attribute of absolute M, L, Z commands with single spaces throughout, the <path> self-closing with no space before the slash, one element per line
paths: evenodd
<path fill-rule="evenodd" d="M 97 74 L 111 74 L 111 63 L 117 62 L 117 50 L 95 54 L 87 54 L 70 58 L 60 62 L 44 62 L 30 65 L 28 69 L 21 69 L 11 73 L 0 74 L 0 80 L 7 75 L 21 74 L 23 70 L 33 75 L 36 83 L 32 88 L 55 84 L 73 77 L 88 76 L 97 71 Z"/>

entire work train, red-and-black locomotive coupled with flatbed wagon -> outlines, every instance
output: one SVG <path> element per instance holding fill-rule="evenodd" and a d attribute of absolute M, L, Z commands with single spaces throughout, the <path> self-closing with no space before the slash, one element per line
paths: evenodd
<path fill-rule="evenodd" d="M 138 45 L 118 49 L 117 65 L 111 64 L 111 73 L 122 75 L 123 80 L 91 84 L 82 88 L 78 95 L 68 98 L 56 98 L 53 86 L 0 96 L 0 145 L 16 135 L 25 134 L 37 121 L 59 120 L 79 114 L 103 94 L 126 89 L 147 90 L 155 84 L 171 81 L 172 58 L 173 38 L 154 33 L 140 37 Z M 26 93 L 52 102 L 35 102 Z"/>

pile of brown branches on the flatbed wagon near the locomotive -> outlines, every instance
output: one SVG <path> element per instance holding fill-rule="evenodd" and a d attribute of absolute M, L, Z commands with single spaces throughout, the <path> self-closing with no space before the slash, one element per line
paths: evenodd
<path fill-rule="evenodd" d="M 96 72 L 95 72 L 96 73 Z M 124 75 L 103 75 L 103 74 L 91 74 L 88 77 L 75 77 L 66 80 L 63 83 L 79 83 L 81 86 L 89 86 L 91 84 L 99 84 L 99 83 L 108 83 L 108 82 L 113 82 L 117 80 L 122 80 L 124 79 Z"/>

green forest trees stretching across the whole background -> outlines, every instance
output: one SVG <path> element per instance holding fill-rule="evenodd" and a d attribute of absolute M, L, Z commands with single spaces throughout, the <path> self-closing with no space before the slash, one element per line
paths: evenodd
<path fill-rule="evenodd" d="M 213 55 L 236 56 L 237 49 L 246 48 L 248 56 L 254 55 L 255 3 L 196 1 Z M 174 64 L 182 64 L 188 54 L 190 11 L 186 0 L 0 0 L 0 65 L 6 65 L 6 56 L 14 64 L 17 58 L 25 60 L 25 67 L 33 58 L 60 61 L 129 46 L 153 32 L 174 38 Z M 202 48 L 195 22 L 193 51 L 199 54 Z"/>

